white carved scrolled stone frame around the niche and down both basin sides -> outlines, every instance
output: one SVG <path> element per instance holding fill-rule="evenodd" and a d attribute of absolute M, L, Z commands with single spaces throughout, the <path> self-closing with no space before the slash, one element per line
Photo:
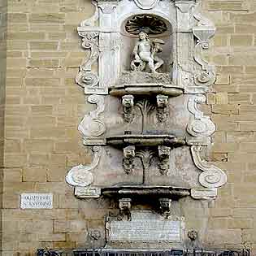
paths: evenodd
<path fill-rule="evenodd" d="M 191 146 L 196 167 L 202 171 L 198 176 L 202 187 L 193 188 L 191 196 L 195 199 L 215 198 L 216 188 L 226 183 L 227 176 L 218 167 L 202 160 L 200 153 L 210 145 L 210 136 L 215 132 L 215 124 L 197 107 L 198 103 L 205 102 L 205 94 L 215 82 L 215 67 L 202 58 L 202 51 L 209 48 L 209 40 L 215 34 L 214 24 L 200 15 L 200 3 L 197 0 L 163 0 L 161 5 L 159 0 L 154 0 L 151 4 L 143 4 L 140 0 L 99 0 L 93 2 L 93 5 L 94 15 L 89 20 L 82 21 L 77 28 L 82 37 L 82 46 L 89 50 L 90 54 L 85 63 L 81 64 L 76 76 L 77 84 L 85 88 L 85 95 L 90 95 L 88 102 L 97 104 L 97 109 L 86 114 L 79 126 L 84 144 L 93 146 L 93 163 L 86 167 L 73 167 L 67 174 L 67 183 L 76 187 L 77 197 L 100 196 L 100 189 L 92 185 L 91 171 L 100 161 L 102 146 L 106 145 L 106 125 L 102 115 L 104 98 L 108 94 L 108 88 L 115 85 L 121 72 L 119 58 L 122 23 L 128 16 L 149 13 L 168 20 L 172 26 L 172 82 L 184 89 L 184 94 L 189 96 L 188 111 L 191 115 L 187 124 L 187 144 Z M 132 105 L 127 112 L 132 115 Z M 132 117 L 127 115 L 126 118 Z M 128 171 L 129 168 L 127 167 Z"/>

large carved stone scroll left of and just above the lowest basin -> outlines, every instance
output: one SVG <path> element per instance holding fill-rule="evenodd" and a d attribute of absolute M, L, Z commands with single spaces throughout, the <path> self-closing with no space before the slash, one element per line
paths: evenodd
<path fill-rule="evenodd" d="M 72 186 L 87 187 L 93 183 L 93 169 L 98 166 L 102 154 L 101 146 L 93 146 L 93 162 L 89 165 L 78 165 L 68 171 L 66 181 Z"/>

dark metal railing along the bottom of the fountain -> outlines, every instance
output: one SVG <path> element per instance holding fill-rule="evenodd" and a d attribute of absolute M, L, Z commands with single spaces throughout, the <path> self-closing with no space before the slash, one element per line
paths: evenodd
<path fill-rule="evenodd" d="M 249 249 L 37 249 L 37 256 L 250 256 Z"/>

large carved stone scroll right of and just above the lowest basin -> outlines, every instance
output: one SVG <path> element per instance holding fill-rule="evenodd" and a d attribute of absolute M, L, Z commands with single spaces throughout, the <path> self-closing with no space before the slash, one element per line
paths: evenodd
<path fill-rule="evenodd" d="M 193 162 L 196 167 L 202 171 L 199 176 L 199 182 L 203 187 L 209 189 L 219 188 L 227 182 L 227 176 L 219 169 L 219 167 L 215 167 L 214 165 L 202 160 L 200 155 L 202 148 L 202 145 L 191 146 Z"/>

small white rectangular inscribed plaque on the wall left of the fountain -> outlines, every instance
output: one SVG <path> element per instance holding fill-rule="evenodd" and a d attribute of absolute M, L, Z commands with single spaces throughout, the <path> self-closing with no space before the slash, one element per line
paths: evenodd
<path fill-rule="evenodd" d="M 20 195 L 21 209 L 52 209 L 52 193 L 22 193 Z"/>

